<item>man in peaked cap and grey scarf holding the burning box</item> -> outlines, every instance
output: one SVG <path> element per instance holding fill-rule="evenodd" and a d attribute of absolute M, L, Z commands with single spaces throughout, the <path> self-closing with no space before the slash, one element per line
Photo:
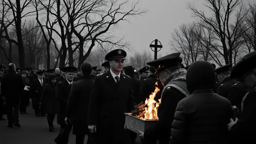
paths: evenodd
<path fill-rule="evenodd" d="M 140 132 L 140 137 L 149 143 L 159 140 L 159 144 L 168 144 L 177 104 L 189 96 L 186 86 L 187 71 L 180 68 L 179 56 L 180 52 L 177 52 L 147 63 L 156 68 L 155 75 L 165 87 L 157 110 L 159 121 L 145 132 Z"/>

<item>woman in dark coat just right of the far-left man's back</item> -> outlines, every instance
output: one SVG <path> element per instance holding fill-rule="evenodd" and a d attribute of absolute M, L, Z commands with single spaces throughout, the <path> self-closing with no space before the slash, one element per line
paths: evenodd
<path fill-rule="evenodd" d="M 29 99 L 29 89 L 30 89 L 30 80 L 28 78 L 28 74 L 26 71 L 22 71 L 21 73 L 22 81 L 25 86 L 27 86 L 26 90 L 22 90 L 21 99 L 20 99 L 20 114 L 26 114 L 27 109 L 27 99 Z"/>

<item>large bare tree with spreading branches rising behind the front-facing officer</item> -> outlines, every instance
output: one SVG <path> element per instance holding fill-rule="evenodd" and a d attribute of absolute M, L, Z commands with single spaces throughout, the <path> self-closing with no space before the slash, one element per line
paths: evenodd
<path fill-rule="evenodd" d="M 123 10 L 123 7 L 128 4 L 128 0 L 118 4 L 117 0 L 79 0 L 78 3 L 82 3 L 80 7 L 68 9 L 68 15 L 70 17 L 71 28 L 75 35 L 79 38 L 79 66 L 82 65 L 84 60 L 90 55 L 91 49 L 95 43 L 108 43 L 117 48 L 130 49 L 130 43 L 123 42 L 123 39 L 113 42 L 114 36 L 111 35 L 111 30 L 120 21 L 125 21 L 128 16 L 141 15 L 146 10 L 136 9 L 135 3 L 128 11 Z M 72 7 L 70 4 L 65 3 L 66 8 Z M 79 21 L 83 23 L 79 24 Z M 127 21 L 127 20 L 126 20 Z M 74 23 L 77 23 L 76 25 Z M 82 30 L 79 30 L 82 27 Z M 82 31 L 85 33 L 82 34 Z M 84 42 L 89 40 L 87 52 L 84 54 Z M 104 49 L 103 46 L 101 46 Z"/>

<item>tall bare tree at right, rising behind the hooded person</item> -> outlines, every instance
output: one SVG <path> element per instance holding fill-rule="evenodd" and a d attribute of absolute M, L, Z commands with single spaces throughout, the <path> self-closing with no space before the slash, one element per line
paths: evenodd
<path fill-rule="evenodd" d="M 240 45 L 239 37 L 244 33 L 240 28 L 246 28 L 242 25 L 245 16 L 248 13 L 242 0 L 206 0 L 206 6 L 211 12 L 212 16 L 207 17 L 205 13 L 198 10 L 195 5 L 188 5 L 188 9 L 192 11 L 193 17 L 198 18 L 199 24 L 204 28 L 214 31 L 218 37 L 220 46 L 215 46 L 215 50 L 224 57 L 226 64 L 233 63 L 233 51 Z M 233 15 L 235 13 L 235 15 Z M 235 16 L 235 22 L 230 19 Z M 203 21 L 204 23 L 201 23 Z"/>

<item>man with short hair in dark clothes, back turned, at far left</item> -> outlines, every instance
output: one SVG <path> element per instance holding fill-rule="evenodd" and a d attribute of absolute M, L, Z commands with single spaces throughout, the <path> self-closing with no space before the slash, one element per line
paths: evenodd
<path fill-rule="evenodd" d="M 20 127 L 19 104 L 21 92 L 25 85 L 21 76 L 16 74 L 14 63 L 10 63 L 8 69 L 8 73 L 3 75 L 1 79 L 1 93 L 6 100 L 8 127 L 13 127 L 13 125 Z"/>

